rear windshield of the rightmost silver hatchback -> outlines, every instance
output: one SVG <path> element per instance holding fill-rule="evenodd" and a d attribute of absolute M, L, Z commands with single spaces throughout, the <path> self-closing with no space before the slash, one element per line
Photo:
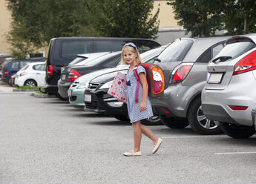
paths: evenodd
<path fill-rule="evenodd" d="M 226 47 L 223 47 L 223 49 L 220 50 L 220 53 L 218 53 L 214 58 L 221 56 L 231 56 L 234 59 L 254 47 L 256 47 L 255 43 L 249 40 L 235 40 L 235 42 L 230 42 L 228 45 L 226 45 Z"/>

